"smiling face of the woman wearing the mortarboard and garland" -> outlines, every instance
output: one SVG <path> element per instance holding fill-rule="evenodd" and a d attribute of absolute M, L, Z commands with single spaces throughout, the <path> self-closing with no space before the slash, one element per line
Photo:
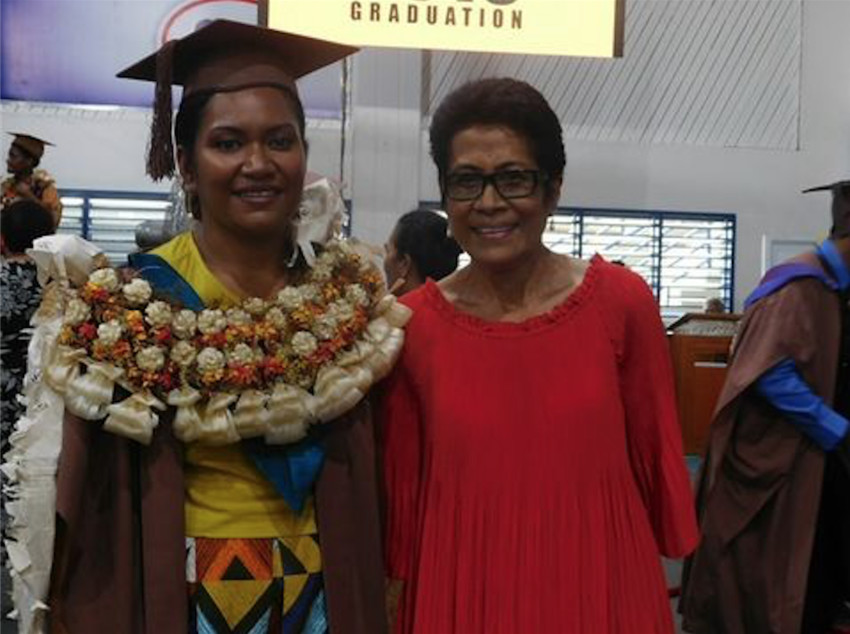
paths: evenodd
<path fill-rule="evenodd" d="M 307 164 L 290 99 L 275 88 L 216 94 L 192 154 L 178 148 L 184 187 L 198 197 L 205 230 L 263 241 L 290 235 Z"/>

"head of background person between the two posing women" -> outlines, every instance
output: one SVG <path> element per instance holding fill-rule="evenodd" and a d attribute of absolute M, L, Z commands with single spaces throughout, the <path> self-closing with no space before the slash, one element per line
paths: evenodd
<path fill-rule="evenodd" d="M 403 295 L 454 272 L 462 250 L 449 233 L 449 223 L 428 209 L 415 209 L 398 219 L 386 244 L 387 286 Z"/>

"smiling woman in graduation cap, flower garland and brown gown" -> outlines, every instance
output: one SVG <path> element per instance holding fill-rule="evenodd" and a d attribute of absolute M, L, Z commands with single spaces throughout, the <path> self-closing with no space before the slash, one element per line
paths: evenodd
<path fill-rule="evenodd" d="M 385 631 L 363 396 L 409 311 L 348 243 L 298 240 L 295 79 L 354 50 L 219 20 L 119 75 L 156 80 L 154 178 L 175 169 L 183 86 L 176 159 L 197 222 L 129 272 L 94 271 L 66 312 L 57 354 L 74 361 L 45 371 L 66 409 L 51 631 Z M 126 310 L 98 308 L 107 295 Z M 109 402 L 80 387 L 113 379 Z"/>

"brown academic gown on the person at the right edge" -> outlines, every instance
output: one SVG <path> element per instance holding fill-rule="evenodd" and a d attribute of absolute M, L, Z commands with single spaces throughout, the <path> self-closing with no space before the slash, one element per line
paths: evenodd
<path fill-rule="evenodd" d="M 799 260 L 821 266 L 814 254 Z M 832 403 L 840 334 L 838 294 L 814 278 L 789 283 L 744 315 L 698 485 L 702 540 L 683 574 L 686 631 L 800 632 L 825 454 L 753 384 L 791 358 Z"/>

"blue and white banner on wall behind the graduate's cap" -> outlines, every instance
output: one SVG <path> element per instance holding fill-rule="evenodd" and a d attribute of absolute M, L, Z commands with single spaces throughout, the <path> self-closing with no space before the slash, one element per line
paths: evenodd
<path fill-rule="evenodd" d="M 256 0 L 0 0 L 0 98 L 148 108 L 115 73 L 219 18 L 257 24 Z M 339 119 L 340 64 L 298 83 L 309 117 Z"/>

